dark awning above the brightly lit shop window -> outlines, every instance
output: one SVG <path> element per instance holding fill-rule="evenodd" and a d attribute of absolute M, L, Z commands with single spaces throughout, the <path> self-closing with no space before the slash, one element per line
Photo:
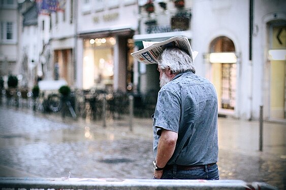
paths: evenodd
<path fill-rule="evenodd" d="M 104 28 L 101 30 L 93 30 L 89 32 L 79 33 L 79 37 L 106 37 L 111 35 L 119 35 L 119 36 L 132 36 L 134 34 L 134 29 L 128 28 Z"/>

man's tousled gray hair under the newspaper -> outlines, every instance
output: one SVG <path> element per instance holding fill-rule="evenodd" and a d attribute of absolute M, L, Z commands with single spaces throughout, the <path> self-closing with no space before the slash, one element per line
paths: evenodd
<path fill-rule="evenodd" d="M 176 74 L 185 71 L 196 72 L 193 58 L 178 48 L 166 48 L 159 57 L 158 67 L 162 70 L 169 67 L 172 73 Z"/>

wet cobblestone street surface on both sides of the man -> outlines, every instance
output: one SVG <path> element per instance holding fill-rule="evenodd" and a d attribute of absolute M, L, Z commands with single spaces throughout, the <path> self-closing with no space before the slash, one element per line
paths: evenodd
<path fill-rule="evenodd" d="M 89 121 L 0 106 L 0 177 L 152 178 L 152 120 Z M 220 179 L 286 187 L 286 126 L 219 118 Z"/>

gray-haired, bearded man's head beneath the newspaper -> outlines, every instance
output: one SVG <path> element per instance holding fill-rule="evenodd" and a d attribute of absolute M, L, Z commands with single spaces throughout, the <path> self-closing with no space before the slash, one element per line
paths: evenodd
<path fill-rule="evenodd" d="M 166 48 L 159 58 L 157 69 L 160 72 L 160 87 L 169 83 L 180 72 L 196 72 L 192 57 L 178 48 Z"/>

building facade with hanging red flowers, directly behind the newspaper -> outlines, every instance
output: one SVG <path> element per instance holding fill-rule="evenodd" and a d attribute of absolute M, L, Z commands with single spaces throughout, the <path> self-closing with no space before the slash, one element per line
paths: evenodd
<path fill-rule="evenodd" d="M 142 49 L 142 41 L 161 42 L 181 35 L 192 42 L 191 28 L 193 1 L 139 1 L 138 33 L 134 35 L 136 50 Z M 156 65 L 134 63 L 134 84 L 137 92 L 158 92 L 159 73 Z"/>

